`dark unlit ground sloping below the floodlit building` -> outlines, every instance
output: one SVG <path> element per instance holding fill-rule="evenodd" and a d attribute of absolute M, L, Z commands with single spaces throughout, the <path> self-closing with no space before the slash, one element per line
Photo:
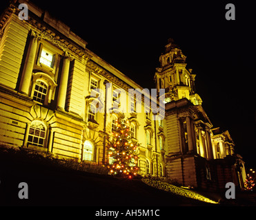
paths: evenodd
<path fill-rule="evenodd" d="M 19 199 L 19 183 L 28 184 L 28 199 Z M 221 195 L 206 193 L 210 199 Z M 255 195 L 240 194 L 213 205 L 120 179 L 70 170 L 0 153 L 1 206 L 254 206 Z"/>

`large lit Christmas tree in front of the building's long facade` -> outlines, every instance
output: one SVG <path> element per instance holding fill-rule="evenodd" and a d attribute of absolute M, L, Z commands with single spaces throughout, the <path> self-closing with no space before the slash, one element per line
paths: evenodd
<path fill-rule="evenodd" d="M 130 122 L 124 114 L 112 126 L 112 135 L 108 142 L 108 168 L 112 175 L 132 178 L 139 171 L 137 143 L 132 140 Z"/>

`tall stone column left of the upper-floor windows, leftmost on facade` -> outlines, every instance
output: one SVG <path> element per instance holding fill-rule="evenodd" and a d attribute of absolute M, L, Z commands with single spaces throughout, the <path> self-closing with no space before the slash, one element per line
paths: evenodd
<path fill-rule="evenodd" d="M 31 76 L 35 63 L 35 56 L 37 52 L 37 36 L 38 35 L 35 32 L 31 32 L 30 47 L 28 49 L 28 55 L 21 77 L 21 83 L 19 85 L 19 91 L 26 95 L 28 95 L 30 88 Z"/>

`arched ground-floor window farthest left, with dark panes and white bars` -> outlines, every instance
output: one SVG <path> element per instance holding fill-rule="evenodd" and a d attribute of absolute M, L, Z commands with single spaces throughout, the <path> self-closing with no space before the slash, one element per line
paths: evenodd
<path fill-rule="evenodd" d="M 43 123 L 39 121 L 32 122 L 28 133 L 28 144 L 43 147 L 45 139 L 46 128 L 43 126 Z"/>

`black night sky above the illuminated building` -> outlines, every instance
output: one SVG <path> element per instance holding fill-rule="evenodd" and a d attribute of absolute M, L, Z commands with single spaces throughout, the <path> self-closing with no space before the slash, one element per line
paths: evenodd
<path fill-rule="evenodd" d="M 197 74 L 196 92 L 213 126 L 228 129 L 246 168 L 256 168 L 251 1 L 33 2 L 70 26 L 89 50 L 148 89 L 155 87 L 164 45 L 174 39 L 187 56 L 187 67 Z M 235 21 L 225 19 L 227 3 L 235 5 Z"/>

